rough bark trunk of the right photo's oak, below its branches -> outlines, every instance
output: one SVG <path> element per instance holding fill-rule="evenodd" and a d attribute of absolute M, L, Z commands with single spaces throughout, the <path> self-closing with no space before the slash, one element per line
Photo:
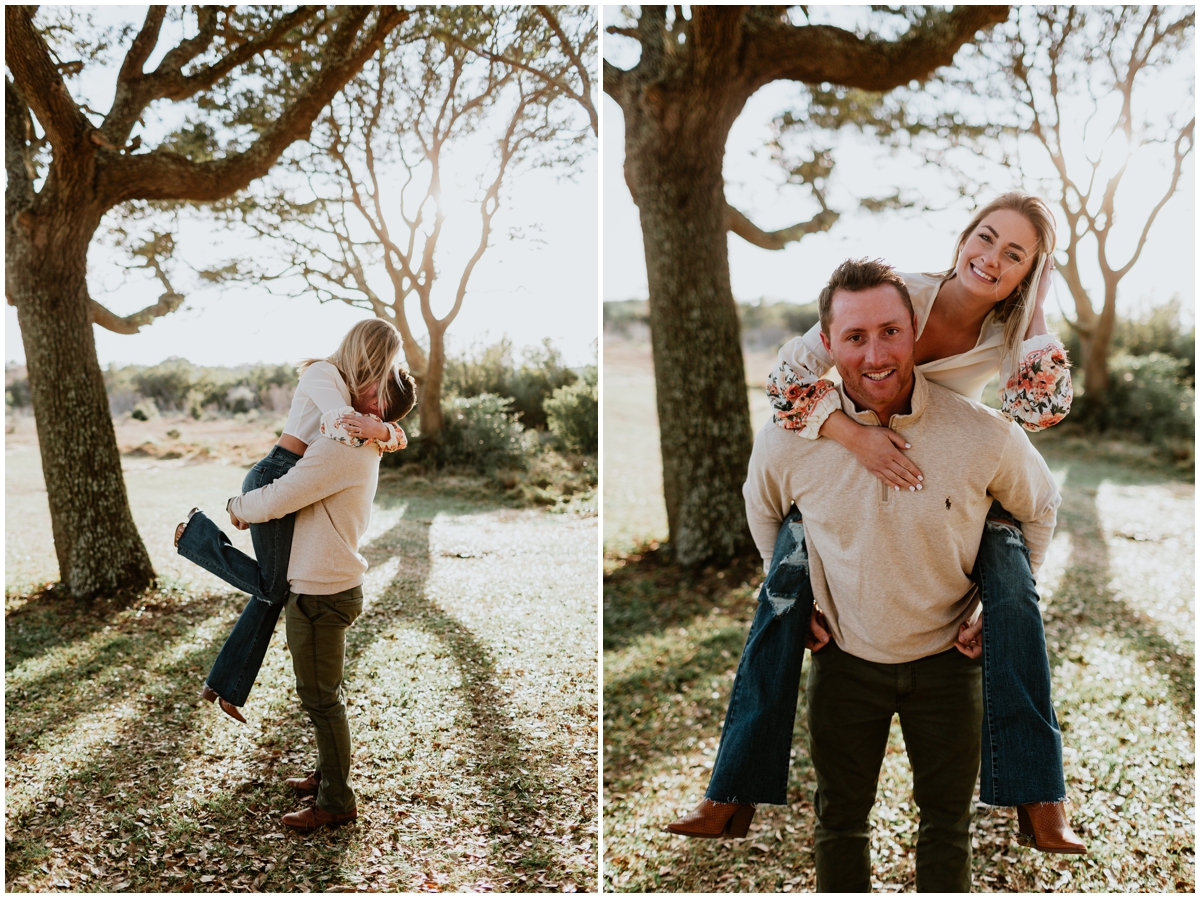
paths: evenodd
<path fill-rule="evenodd" d="M 625 178 L 646 246 L 670 541 L 683 564 L 749 545 L 742 484 L 752 435 L 730 288 L 721 163 L 745 97 L 649 88 L 625 113 Z"/>

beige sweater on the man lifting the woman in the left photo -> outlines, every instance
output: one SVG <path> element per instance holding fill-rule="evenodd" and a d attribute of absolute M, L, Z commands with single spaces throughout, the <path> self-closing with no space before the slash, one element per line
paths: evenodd
<path fill-rule="evenodd" d="M 378 481 L 373 443 L 354 448 L 314 439 L 288 473 L 238 496 L 229 510 L 248 523 L 296 511 L 288 562 L 292 592 L 331 595 L 362 583 L 367 562 L 359 555 L 359 539 L 371 522 Z"/>

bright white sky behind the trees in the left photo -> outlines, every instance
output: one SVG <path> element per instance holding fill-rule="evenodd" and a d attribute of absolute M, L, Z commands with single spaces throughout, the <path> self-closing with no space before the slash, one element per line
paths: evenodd
<path fill-rule="evenodd" d="M 140 23 L 145 7 L 104 7 L 94 12 L 97 22 Z M 108 108 L 113 77 L 112 71 L 106 72 L 86 86 L 92 108 Z M 448 217 L 439 244 L 439 251 L 445 250 L 438 261 L 442 283 L 434 292 L 434 311 L 439 315 L 449 307 L 446 294 L 457 287 L 461 264 L 455 263 L 469 256 L 479 240 L 479 215 L 466 196 L 485 164 L 486 152 L 487 148 L 476 140 L 443 172 Z M 476 265 L 463 310 L 446 333 L 449 352 L 476 342 L 491 343 L 505 335 L 517 348 L 550 337 L 569 365 L 592 364 L 599 318 L 598 217 L 594 152 L 574 168 L 570 180 L 551 169 L 526 170 L 511 178 L 493 222 L 492 245 Z M 524 238 L 510 239 L 512 231 L 522 232 Z M 194 224 L 181 231 L 178 246 L 176 257 L 198 268 L 224 259 L 230 252 L 254 252 L 253 246 L 245 244 L 229 246 L 227 237 Z M 89 257 L 92 295 L 118 315 L 157 301 L 161 285 L 143 271 L 126 276 L 119 262 L 94 241 Z M 274 297 L 262 287 L 241 286 L 190 289 L 194 283 L 194 276 L 182 268 L 175 288 L 187 295 L 185 307 L 136 335 L 94 328 L 101 365 L 152 365 L 172 355 L 202 365 L 296 361 L 329 354 L 342 334 L 368 315 L 342 303 L 322 305 L 316 297 L 289 299 Z M 384 295 L 390 294 L 386 285 L 385 276 L 376 279 L 374 286 Z M 414 331 L 424 335 L 415 297 L 409 299 L 408 316 Z M 12 306 L 5 306 L 5 359 L 24 361 Z"/>

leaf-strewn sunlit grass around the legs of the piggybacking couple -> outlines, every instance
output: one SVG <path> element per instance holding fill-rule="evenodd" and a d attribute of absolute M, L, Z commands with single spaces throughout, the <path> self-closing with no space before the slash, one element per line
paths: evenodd
<path fill-rule="evenodd" d="M 654 426 L 610 430 L 606 441 L 656 442 Z M 1015 812 L 980 808 L 974 888 L 1194 892 L 1194 485 L 1128 445 L 1054 431 L 1034 442 L 1064 497 L 1039 589 L 1068 812 L 1091 854 L 1021 848 Z M 607 457 L 606 484 L 623 477 Z M 787 807 L 760 808 L 740 840 L 661 831 L 703 797 L 762 582 L 758 564 L 680 570 L 656 541 L 611 538 L 622 525 L 608 520 L 607 495 L 605 514 L 606 890 L 812 891 L 815 778 L 803 693 Z M 872 813 L 878 891 L 914 888 L 911 792 L 894 724 Z"/>

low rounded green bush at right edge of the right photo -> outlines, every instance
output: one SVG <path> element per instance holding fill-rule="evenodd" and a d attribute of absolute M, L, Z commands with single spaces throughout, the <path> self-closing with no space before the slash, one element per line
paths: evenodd
<path fill-rule="evenodd" d="M 1195 389 L 1188 363 L 1165 353 L 1118 355 L 1109 365 L 1109 390 L 1086 424 L 1102 432 L 1156 442 L 1195 432 Z"/>

